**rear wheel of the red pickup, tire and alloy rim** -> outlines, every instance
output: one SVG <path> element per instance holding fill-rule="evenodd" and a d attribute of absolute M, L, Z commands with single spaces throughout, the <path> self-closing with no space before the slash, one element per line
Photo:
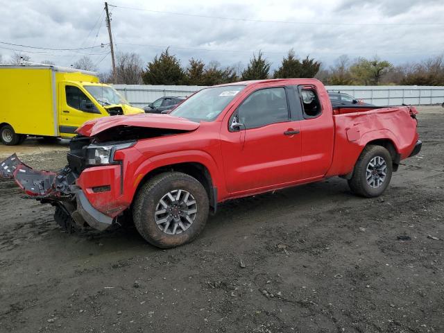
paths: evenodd
<path fill-rule="evenodd" d="M 380 196 L 388 187 L 393 171 L 391 155 L 382 146 L 368 145 L 364 148 L 348 180 L 355 193 L 367 198 Z"/>

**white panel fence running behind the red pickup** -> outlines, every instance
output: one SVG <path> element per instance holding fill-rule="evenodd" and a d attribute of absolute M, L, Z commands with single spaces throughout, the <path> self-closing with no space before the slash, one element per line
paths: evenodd
<path fill-rule="evenodd" d="M 133 105 L 144 107 L 162 96 L 189 96 L 198 85 L 114 85 Z M 444 102 L 444 87 L 409 85 L 329 85 L 329 92 L 345 92 L 375 105 L 432 105 Z"/>

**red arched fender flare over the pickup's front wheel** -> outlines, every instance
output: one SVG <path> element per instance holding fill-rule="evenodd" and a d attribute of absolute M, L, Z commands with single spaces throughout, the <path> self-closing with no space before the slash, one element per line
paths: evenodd
<path fill-rule="evenodd" d="M 151 171 L 158 169 L 160 167 L 167 167 L 171 164 L 179 163 L 199 163 L 207 168 L 212 179 L 212 183 L 215 187 L 219 189 L 218 200 L 225 194 L 224 182 L 223 182 L 223 171 L 219 170 L 214 158 L 205 153 L 205 151 L 189 150 L 189 151 L 176 151 L 173 153 L 165 153 L 161 155 L 155 155 L 148 158 L 142 164 L 137 167 L 133 178 L 131 180 L 130 195 L 133 197 L 135 191 L 140 185 L 140 182 L 144 177 Z"/>

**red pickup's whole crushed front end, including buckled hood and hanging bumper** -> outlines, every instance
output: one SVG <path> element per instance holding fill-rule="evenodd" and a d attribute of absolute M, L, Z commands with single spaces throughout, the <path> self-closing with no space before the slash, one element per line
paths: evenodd
<path fill-rule="evenodd" d="M 105 230 L 128 212 L 144 176 L 137 168 L 149 158 L 137 149 L 137 142 L 198 127 L 166 114 L 93 119 L 76 130 L 68 164 L 58 173 L 35 171 L 12 155 L 0 162 L 0 178 L 14 178 L 29 198 L 56 206 L 54 219 L 69 232 L 87 225 Z"/>

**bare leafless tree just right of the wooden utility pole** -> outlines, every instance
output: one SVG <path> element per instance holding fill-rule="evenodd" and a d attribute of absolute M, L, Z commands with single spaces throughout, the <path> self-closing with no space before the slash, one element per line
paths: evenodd
<path fill-rule="evenodd" d="M 142 84 L 142 59 L 137 53 L 117 53 L 116 82 L 126 85 Z"/>

